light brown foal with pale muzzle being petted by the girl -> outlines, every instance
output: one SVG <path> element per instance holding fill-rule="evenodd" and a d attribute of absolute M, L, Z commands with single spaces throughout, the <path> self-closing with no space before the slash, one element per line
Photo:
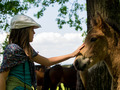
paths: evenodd
<path fill-rule="evenodd" d="M 105 22 L 98 14 L 91 20 L 92 29 L 89 30 L 85 39 L 85 47 L 81 55 L 76 57 L 74 63 L 78 70 L 85 70 L 81 74 L 85 85 L 84 76 L 87 69 L 99 61 L 104 61 L 111 74 L 113 81 L 111 89 L 120 90 L 120 32 L 113 22 Z"/>

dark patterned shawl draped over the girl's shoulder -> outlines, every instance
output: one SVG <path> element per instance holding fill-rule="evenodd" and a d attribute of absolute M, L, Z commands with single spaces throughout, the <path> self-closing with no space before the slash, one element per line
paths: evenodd
<path fill-rule="evenodd" d="M 0 72 L 3 72 L 20 63 L 24 63 L 29 58 L 26 56 L 23 49 L 17 44 L 9 44 L 6 46 L 3 53 L 3 60 Z"/>

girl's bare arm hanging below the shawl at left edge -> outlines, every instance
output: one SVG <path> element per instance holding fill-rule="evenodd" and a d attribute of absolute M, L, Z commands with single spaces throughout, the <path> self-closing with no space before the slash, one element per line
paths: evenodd
<path fill-rule="evenodd" d="M 6 90 L 6 79 L 8 74 L 9 70 L 0 73 L 0 90 Z"/>

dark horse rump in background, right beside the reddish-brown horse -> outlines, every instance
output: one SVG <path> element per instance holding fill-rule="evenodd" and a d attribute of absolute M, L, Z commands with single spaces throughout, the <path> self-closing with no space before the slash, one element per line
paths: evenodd
<path fill-rule="evenodd" d="M 58 83 L 63 75 L 63 69 L 60 65 L 52 66 L 45 71 L 44 85 L 42 90 L 56 90 Z"/>

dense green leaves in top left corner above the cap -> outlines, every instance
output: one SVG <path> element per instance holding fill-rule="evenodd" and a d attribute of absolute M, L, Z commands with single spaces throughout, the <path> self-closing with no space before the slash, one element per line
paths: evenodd
<path fill-rule="evenodd" d="M 0 29 L 8 30 L 8 19 L 10 16 L 16 15 L 19 12 L 23 13 L 28 10 L 28 4 L 20 3 L 19 0 L 1 0 L 0 1 Z"/>

